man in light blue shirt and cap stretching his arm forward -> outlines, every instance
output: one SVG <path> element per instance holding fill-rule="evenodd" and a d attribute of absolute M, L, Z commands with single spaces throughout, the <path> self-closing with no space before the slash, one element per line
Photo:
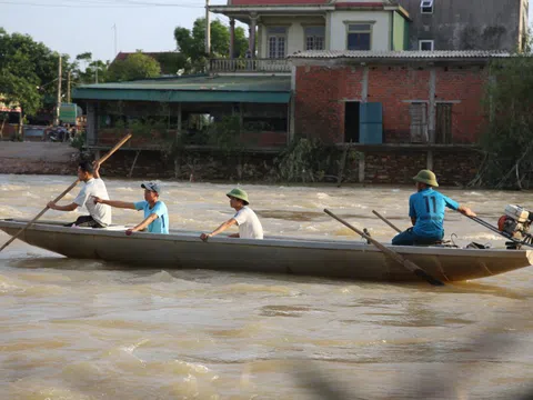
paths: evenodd
<path fill-rule="evenodd" d="M 111 207 L 138 210 L 144 212 L 144 219 L 134 228 L 128 229 L 125 234 L 142 231 L 148 228 L 150 233 L 169 233 L 169 211 L 167 204 L 159 200 L 161 188 L 155 182 L 143 182 L 141 188 L 144 189 L 144 200 L 130 202 L 120 200 L 108 200 L 94 197 L 94 203 L 108 204 Z"/>

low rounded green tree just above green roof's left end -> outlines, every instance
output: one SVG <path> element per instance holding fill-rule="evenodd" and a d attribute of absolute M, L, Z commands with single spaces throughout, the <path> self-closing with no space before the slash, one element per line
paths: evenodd
<path fill-rule="evenodd" d="M 125 60 L 111 63 L 108 69 L 109 81 L 129 81 L 135 79 L 155 78 L 161 74 L 161 66 L 152 57 L 142 51 L 129 56 Z"/>

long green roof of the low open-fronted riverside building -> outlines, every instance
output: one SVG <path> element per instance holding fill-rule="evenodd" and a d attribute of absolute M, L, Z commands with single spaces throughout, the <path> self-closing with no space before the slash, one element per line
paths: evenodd
<path fill-rule="evenodd" d="M 72 97 L 80 100 L 286 103 L 291 97 L 291 78 L 275 76 L 160 78 L 81 86 L 74 89 Z"/>

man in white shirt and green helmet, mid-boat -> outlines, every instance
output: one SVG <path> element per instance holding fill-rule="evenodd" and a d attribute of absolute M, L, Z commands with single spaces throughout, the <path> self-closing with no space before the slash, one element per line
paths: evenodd
<path fill-rule="evenodd" d="M 248 201 L 248 193 L 242 189 L 233 189 L 225 196 L 230 198 L 230 207 L 235 209 L 237 213 L 211 233 L 202 233 L 200 239 L 207 241 L 209 238 L 223 232 L 235 223 L 239 226 L 239 233 L 232 233 L 229 236 L 230 238 L 263 239 L 263 227 L 255 212 L 248 207 L 250 203 Z"/>

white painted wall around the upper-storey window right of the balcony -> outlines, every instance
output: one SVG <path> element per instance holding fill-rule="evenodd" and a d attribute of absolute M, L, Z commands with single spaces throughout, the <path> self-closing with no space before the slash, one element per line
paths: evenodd
<path fill-rule="evenodd" d="M 374 22 L 372 24 L 371 50 L 391 50 L 391 11 L 334 11 L 330 17 L 330 49 L 346 50 L 346 24 Z M 326 34 L 328 36 L 328 34 Z"/>

